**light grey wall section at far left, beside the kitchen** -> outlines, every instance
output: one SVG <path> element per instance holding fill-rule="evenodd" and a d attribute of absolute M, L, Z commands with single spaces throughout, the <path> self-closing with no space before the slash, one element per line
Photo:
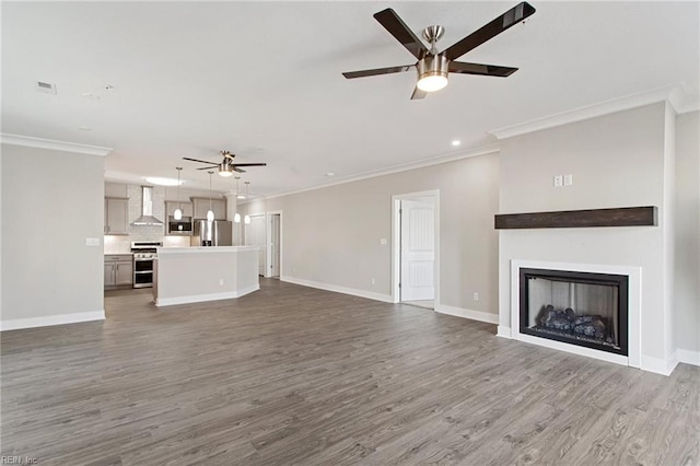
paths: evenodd
<path fill-rule="evenodd" d="M 1 158 L 2 328 L 104 315 L 104 159 L 9 144 Z"/>

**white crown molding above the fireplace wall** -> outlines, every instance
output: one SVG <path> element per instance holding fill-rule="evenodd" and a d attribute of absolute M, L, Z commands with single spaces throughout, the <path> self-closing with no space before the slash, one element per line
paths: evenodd
<path fill-rule="evenodd" d="M 631 94 L 620 98 L 600 102 L 585 107 L 574 108 L 544 118 L 537 118 L 525 123 L 520 123 L 503 128 L 488 131 L 499 140 L 512 138 L 514 136 L 526 135 L 541 129 L 553 128 L 571 123 L 582 121 L 617 112 L 642 107 L 644 105 L 668 102 L 677 114 L 693 112 L 700 108 L 697 96 L 692 96 L 686 86 L 681 84 L 658 88 L 639 94 Z"/>

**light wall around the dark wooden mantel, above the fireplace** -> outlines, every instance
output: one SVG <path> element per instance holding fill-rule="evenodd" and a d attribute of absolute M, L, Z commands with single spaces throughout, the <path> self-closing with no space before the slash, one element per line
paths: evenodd
<path fill-rule="evenodd" d="M 642 361 L 661 366 L 672 357 L 666 116 L 660 103 L 503 141 L 501 213 L 657 206 L 660 225 L 501 231 L 501 326 L 510 327 L 512 259 L 641 267 Z M 552 187 L 564 174 L 573 186 Z"/>

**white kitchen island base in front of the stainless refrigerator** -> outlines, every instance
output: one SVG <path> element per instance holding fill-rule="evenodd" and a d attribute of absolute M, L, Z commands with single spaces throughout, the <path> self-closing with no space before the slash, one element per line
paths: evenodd
<path fill-rule="evenodd" d="M 258 246 L 159 247 L 156 306 L 240 298 L 260 289 Z"/>

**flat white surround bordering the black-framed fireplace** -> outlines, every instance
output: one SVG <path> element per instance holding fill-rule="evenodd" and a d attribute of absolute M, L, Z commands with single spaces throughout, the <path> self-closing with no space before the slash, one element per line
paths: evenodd
<path fill-rule="evenodd" d="M 520 270 L 522 268 L 563 270 L 574 272 L 611 273 L 628 277 L 628 356 L 614 354 L 592 348 L 538 338 L 520 331 Z M 547 348 L 586 356 L 617 364 L 641 368 L 642 359 L 642 268 L 598 264 L 548 263 L 534 260 L 511 260 L 511 316 L 510 328 L 499 327 L 499 336 L 539 345 Z M 501 321 L 502 322 L 502 321 Z"/>

